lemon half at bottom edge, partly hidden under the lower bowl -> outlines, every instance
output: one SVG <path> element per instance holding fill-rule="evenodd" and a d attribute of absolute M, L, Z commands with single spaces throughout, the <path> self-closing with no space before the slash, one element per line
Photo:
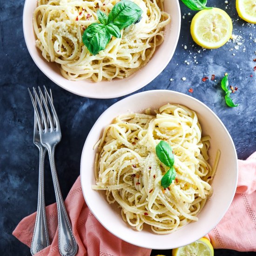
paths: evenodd
<path fill-rule="evenodd" d="M 172 256 L 213 256 L 214 251 L 211 243 L 205 237 L 186 246 L 173 249 Z"/>

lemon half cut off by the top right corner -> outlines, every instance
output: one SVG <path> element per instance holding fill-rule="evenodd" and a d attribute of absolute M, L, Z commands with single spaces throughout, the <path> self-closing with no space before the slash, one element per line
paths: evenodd
<path fill-rule="evenodd" d="M 243 20 L 256 24 L 256 0 L 236 0 L 236 10 Z"/>

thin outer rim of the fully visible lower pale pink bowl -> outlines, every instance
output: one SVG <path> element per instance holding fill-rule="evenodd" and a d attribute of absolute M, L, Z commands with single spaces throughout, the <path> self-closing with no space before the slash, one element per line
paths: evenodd
<path fill-rule="evenodd" d="M 232 144 L 232 148 L 230 148 L 230 150 L 233 151 L 233 154 L 234 154 L 234 156 L 236 157 L 236 169 L 234 170 L 234 171 L 236 171 L 236 186 L 234 186 L 234 188 L 233 188 L 232 197 L 230 197 L 229 203 L 226 205 L 225 210 L 223 211 L 221 217 L 219 217 L 219 219 L 218 219 L 215 223 L 213 223 L 213 224 L 211 225 L 211 228 L 210 228 L 210 229 L 207 231 L 207 233 L 204 234 L 203 236 L 207 235 L 207 234 L 208 234 L 212 229 L 214 229 L 214 227 L 216 227 L 216 225 L 222 220 L 223 216 L 227 213 L 227 211 L 228 211 L 228 209 L 229 209 L 229 207 L 230 207 L 230 205 L 231 205 L 231 203 L 232 203 L 232 201 L 233 201 L 233 199 L 234 199 L 235 193 L 236 193 L 236 187 L 237 187 L 237 182 L 238 182 L 238 158 L 237 158 L 236 147 L 235 147 L 234 141 L 233 141 L 231 135 L 229 134 L 229 131 L 227 130 L 227 128 L 225 127 L 225 125 L 224 125 L 223 122 L 221 121 L 221 119 L 220 119 L 206 104 L 204 104 L 202 101 L 199 101 L 199 100 L 195 99 L 194 97 L 192 97 L 192 96 L 190 96 L 190 95 L 183 94 L 183 93 L 176 92 L 176 91 L 172 91 L 172 90 L 148 90 L 148 91 L 144 91 L 144 92 L 132 94 L 132 95 L 130 95 L 130 96 L 128 96 L 128 97 L 125 97 L 125 98 L 121 99 L 120 101 L 115 102 L 115 103 L 114 103 L 113 105 L 111 105 L 109 108 L 107 108 L 107 109 L 98 117 L 98 119 L 95 121 L 93 127 L 91 128 L 90 132 L 88 133 L 88 136 L 87 136 L 87 138 L 86 138 L 86 141 L 85 141 L 85 143 L 84 143 L 83 150 L 82 150 L 82 153 L 81 153 L 80 176 L 81 176 L 81 188 L 82 188 L 83 197 L 84 197 L 84 199 L 85 199 L 85 202 L 86 202 L 88 208 L 89 208 L 90 211 L 93 213 L 94 217 L 95 217 L 95 218 L 101 223 L 101 225 L 102 225 L 105 229 L 107 229 L 110 233 L 112 233 L 114 236 L 120 238 L 121 240 L 123 240 L 123 241 L 125 241 L 125 242 L 127 242 L 127 243 L 131 243 L 131 242 L 128 241 L 128 239 L 126 239 L 125 237 L 118 236 L 117 234 L 115 234 L 115 232 L 114 232 L 113 230 L 109 230 L 109 229 L 105 226 L 105 224 L 102 223 L 102 222 L 99 220 L 98 216 L 96 216 L 96 214 L 94 214 L 94 211 L 92 210 L 90 203 L 88 203 L 88 201 L 87 201 L 87 199 L 86 199 L 86 198 L 87 198 L 86 192 L 85 192 L 86 188 L 84 187 L 84 183 L 82 182 L 82 180 L 86 179 L 86 177 L 85 177 L 85 172 L 83 171 L 83 168 L 82 168 L 82 167 L 84 166 L 84 163 L 83 163 L 84 157 L 83 157 L 83 155 L 85 154 L 85 146 L 86 146 L 86 144 L 87 144 L 88 138 L 89 138 L 90 135 L 94 132 L 94 127 L 98 124 L 98 122 L 100 122 L 101 117 L 102 117 L 103 115 L 106 115 L 108 112 L 111 112 L 112 108 L 115 108 L 115 105 L 120 104 L 120 102 L 122 102 L 122 101 L 127 101 L 129 98 L 137 97 L 138 95 L 154 94 L 154 93 L 161 93 L 161 92 L 162 92 L 162 93 L 163 93 L 163 92 L 169 92 L 169 93 L 172 93 L 172 94 L 174 94 L 174 95 L 182 95 L 182 96 L 185 96 L 185 98 L 193 99 L 193 100 L 196 101 L 197 103 L 201 104 L 204 108 L 207 108 L 207 109 L 216 117 L 216 120 L 221 124 L 222 128 L 224 129 L 224 131 L 225 131 L 226 134 L 228 135 L 229 140 L 230 140 L 230 142 L 231 142 L 231 144 Z M 108 125 L 108 124 L 106 124 L 106 125 Z M 163 235 L 162 235 L 162 236 L 163 236 Z M 195 239 L 194 239 L 194 238 L 191 239 L 191 241 L 190 241 L 189 243 L 193 243 L 193 242 L 195 242 L 196 240 L 200 239 L 200 238 L 203 237 L 203 236 L 195 237 Z M 193 241 L 192 241 L 192 240 L 193 240 Z M 189 243 L 187 243 L 187 244 L 189 244 Z M 173 249 L 173 248 L 170 248 L 170 247 L 168 247 L 168 246 L 162 246 L 162 247 L 159 247 L 159 246 L 158 246 L 158 247 L 149 246 L 149 247 L 145 247 L 145 246 L 143 246 L 143 245 L 140 243 L 140 241 L 138 241 L 138 243 L 131 243 L 131 244 L 134 244 L 134 245 L 136 245 L 136 246 L 140 246 L 140 247 L 143 247 L 143 248 L 148 248 L 148 249 Z M 184 246 L 187 245 L 187 244 L 184 244 Z"/>

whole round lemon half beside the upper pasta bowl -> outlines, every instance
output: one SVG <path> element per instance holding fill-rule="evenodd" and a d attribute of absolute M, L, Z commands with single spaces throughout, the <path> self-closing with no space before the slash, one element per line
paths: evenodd
<path fill-rule="evenodd" d="M 191 35 L 200 46 L 216 49 L 231 37 L 232 20 L 228 13 L 219 8 L 205 9 L 195 14 L 191 22 Z"/>

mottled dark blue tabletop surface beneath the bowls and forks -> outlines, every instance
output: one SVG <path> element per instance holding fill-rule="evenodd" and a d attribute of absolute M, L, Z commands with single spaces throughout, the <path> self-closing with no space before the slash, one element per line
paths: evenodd
<path fill-rule="evenodd" d="M 213 3 L 226 7 L 224 0 L 209 0 L 209 6 Z M 89 130 L 105 109 L 120 100 L 83 98 L 61 89 L 42 74 L 23 38 L 23 4 L 24 0 L 1 0 L 0 4 L 0 255 L 5 256 L 30 255 L 28 247 L 14 238 L 12 231 L 37 206 L 38 149 L 33 144 L 34 113 L 27 87 L 46 85 L 53 91 L 62 131 L 56 164 L 63 196 L 79 175 L 81 151 Z M 182 5 L 182 15 L 186 15 L 175 55 L 162 74 L 140 91 L 168 89 L 190 94 L 188 90 L 193 88 L 190 95 L 221 118 L 235 142 L 238 157 L 245 159 L 256 151 L 256 63 L 252 61 L 256 58 L 256 26 L 237 16 L 235 0 L 229 0 L 227 12 L 234 21 L 233 34 L 242 36 L 239 49 L 234 48 L 237 44 L 233 41 L 217 50 L 203 51 L 195 46 L 189 33 L 195 12 Z M 228 108 L 223 101 L 219 82 L 225 72 L 229 73 L 230 84 L 238 87 L 232 94 L 239 103 L 237 108 Z M 202 77 L 210 78 L 212 74 L 216 75 L 216 82 L 202 82 Z M 48 162 L 46 170 L 46 204 L 50 204 L 55 197 Z M 170 255 L 171 251 L 164 253 Z M 255 253 L 216 250 L 216 255 Z"/>

